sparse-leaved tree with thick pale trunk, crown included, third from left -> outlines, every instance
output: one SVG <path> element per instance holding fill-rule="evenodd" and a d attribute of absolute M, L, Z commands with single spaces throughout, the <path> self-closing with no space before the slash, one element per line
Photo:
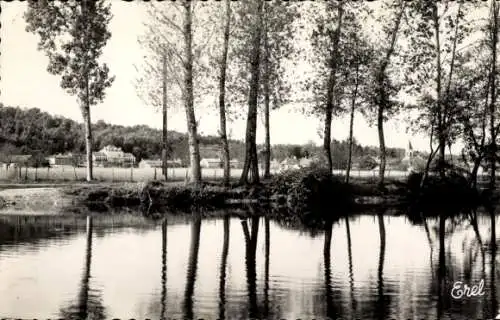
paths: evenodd
<path fill-rule="evenodd" d="M 148 6 L 150 19 L 146 23 L 147 32 L 140 43 L 148 49 L 149 55 L 139 78 L 139 82 L 143 79 L 146 81 L 138 89 L 141 96 L 152 101 L 153 105 L 162 106 L 169 101 L 174 102 L 169 103 L 169 109 L 180 96 L 188 128 L 191 179 L 193 183 L 199 184 L 201 167 L 195 105 L 203 102 L 209 87 L 205 85 L 208 82 L 205 81 L 205 58 L 207 46 L 215 33 L 213 24 L 207 27 L 207 22 L 211 19 L 210 6 L 185 1 L 145 5 Z M 165 70 L 168 71 L 166 80 Z M 160 86 L 159 83 L 168 84 L 168 100 L 165 94 L 167 86 Z M 163 116 L 165 117 L 165 112 Z"/>

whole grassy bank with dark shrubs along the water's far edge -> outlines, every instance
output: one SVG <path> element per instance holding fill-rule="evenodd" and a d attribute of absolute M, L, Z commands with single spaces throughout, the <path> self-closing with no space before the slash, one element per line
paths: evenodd
<path fill-rule="evenodd" d="M 44 204 L 42 200 L 46 199 L 49 207 L 52 202 L 68 204 L 57 208 L 57 212 L 62 214 L 128 212 L 153 218 L 162 217 L 166 212 L 205 215 L 217 210 L 230 209 L 234 212 L 236 208 L 248 207 L 251 208 L 250 214 L 265 212 L 284 221 L 321 225 L 346 214 L 388 207 L 401 208 L 420 216 L 422 210 L 428 211 L 426 207 L 436 208 L 436 201 L 437 212 L 442 214 L 449 208 L 452 211 L 459 209 L 460 206 L 456 204 L 462 200 L 477 200 L 473 197 L 474 193 L 463 188 L 461 179 L 451 182 L 430 179 L 430 184 L 422 190 L 416 187 L 415 181 L 418 181 L 418 177 L 411 177 L 408 181 L 389 178 L 385 190 L 381 191 L 375 177 L 352 177 L 350 183 L 346 184 L 342 176 L 332 175 L 324 169 L 303 168 L 275 175 L 248 187 L 238 186 L 236 182 L 224 187 L 216 180 L 205 182 L 199 187 L 184 182 L 158 181 L 74 183 L 55 185 L 52 191 L 50 188 L 38 188 L 45 190 L 45 193 L 38 196 L 41 201 L 35 207 L 41 207 Z M 29 194 L 38 191 L 30 193 L 26 190 L 30 189 L 0 191 L 0 200 L 9 194 L 10 203 L 32 202 L 33 196 Z M 460 201 L 455 199 L 457 195 Z M 51 208 L 48 210 L 56 211 Z"/>

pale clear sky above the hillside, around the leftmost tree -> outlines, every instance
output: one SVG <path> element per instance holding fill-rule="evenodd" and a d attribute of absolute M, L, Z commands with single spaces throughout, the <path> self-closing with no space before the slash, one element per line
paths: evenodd
<path fill-rule="evenodd" d="M 0 19 L 0 102 L 7 106 L 39 108 L 52 115 L 60 115 L 81 122 L 82 117 L 76 98 L 60 88 L 58 76 L 46 71 L 48 59 L 37 50 L 38 39 L 25 31 L 23 13 L 24 2 L 2 2 Z M 161 128 L 161 115 L 146 105 L 138 96 L 134 81 L 139 77 L 134 65 L 140 65 L 146 52 L 137 39 L 143 32 L 146 15 L 133 3 L 113 0 L 113 18 L 110 22 L 111 39 L 103 53 L 115 81 L 106 91 L 105 100 L 92 107 L 92 121 L 104 120 L 119 125 L 149 125 Z M 195 110 L 202 135 L 216 135 L 218 114 L 215 110 Z M 262 120 L 262 117 L 259 117 Z M 186 132 L 186 118 L 183 110 L 169 112 L 169 130 Z M 244 139 L 245 119 L 228 124 L 231 138 Z M 271 113 L 272 144 L 321 144 L 318 134 L 320 121 L 301 114 L 294 106 L 284 106 Z M 378 146 L 376 127 L 357 115 L 354 122 L 355 139 L 362 145 Z M 264 142 L 263 121 L 258 122 L 257 143 Z M 349 119 L 335 119 L 332 124 L 332 138 L 346 139 L 349 132 Z M 428 150 L 428 139 L 423 136 L 409 135 L 406 125 L 400 119 L 388 121 L 385 125 L 385 140 L 389 147 L 406 148 L 408 142 L 414 149 Z"/>

